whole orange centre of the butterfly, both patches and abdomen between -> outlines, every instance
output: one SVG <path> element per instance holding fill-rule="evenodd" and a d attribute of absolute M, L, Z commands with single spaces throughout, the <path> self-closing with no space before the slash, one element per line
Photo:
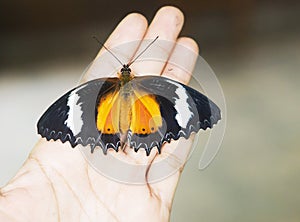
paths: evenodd
<path fill-rule="evenodd" d="M 123 99 L 123 100 L 122 100 Z M 134 91 L 124 99 L 119 92 L 103 96 L 97 107 L 97 129 L 103 134 L 151 134 L 162 126 L 159 104 L 155 97 Z"/>

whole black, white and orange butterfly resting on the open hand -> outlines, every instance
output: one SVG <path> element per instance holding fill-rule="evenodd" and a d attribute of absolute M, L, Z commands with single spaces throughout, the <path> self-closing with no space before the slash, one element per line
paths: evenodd
<path fill-rule="evenodd" d="M 219 107 L 197 90 L 162 76 L 134 76 L 124 64 L 118 77 L 91 80 L 70 90 L 38 121 L 49 140 L 101 147 L 104 154 L 130 146 L 148 156 L 154 147 L 188 139 L 221 119 Z"/>

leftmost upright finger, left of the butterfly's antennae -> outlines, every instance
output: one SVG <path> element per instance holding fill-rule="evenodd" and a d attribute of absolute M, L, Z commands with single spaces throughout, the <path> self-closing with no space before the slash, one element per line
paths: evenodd
<path fill-rule="evenodd" d="M 104 45 L 111 50 L 122 63 L 128 63 L 137 51 L 147 27 L 147 20 L 143 15 L 131 13 L 119 23 Z M 99 59 L 100 57 L 101 59 Z M 120 66 L 121 64 L 102 47 L 85 73 L 82 82 L 116 75 Z"/>

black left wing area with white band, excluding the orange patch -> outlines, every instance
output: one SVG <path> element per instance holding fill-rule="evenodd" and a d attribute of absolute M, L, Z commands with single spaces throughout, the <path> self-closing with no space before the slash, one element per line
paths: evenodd
<path fill-rule="evenodd" d="M 102 78 L 82 84 L 59 98 L 38 121 L 38 133 L 47 140 L 69 141 L 91 145 L 92 151 L 99 145 L 106 153 L 108 148 L 118 149 L 119 135 L 104 135 L 97 130 L 95 119 L 101 95 L 113 90 L 118 78 Z"/>

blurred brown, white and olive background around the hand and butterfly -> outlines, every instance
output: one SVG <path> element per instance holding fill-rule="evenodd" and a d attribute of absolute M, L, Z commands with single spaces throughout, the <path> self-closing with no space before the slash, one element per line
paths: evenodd
<path fill-rule="evenodd" d="M 300 2 L 153 0 L 0 2 L 0 185 L 39 138 L 36 122 L 78 83 L 129 12 L 150 21 L 178 6 L 223 87 L 221 150 L 204 171 L 187 163 L 171 221 L 300 221 Z"/>

